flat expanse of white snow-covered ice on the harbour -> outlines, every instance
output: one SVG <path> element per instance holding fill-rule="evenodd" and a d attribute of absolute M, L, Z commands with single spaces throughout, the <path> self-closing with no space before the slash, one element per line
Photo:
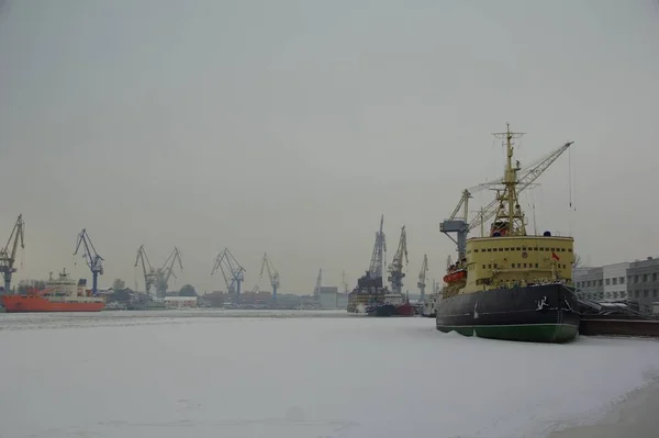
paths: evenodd
<path fill-rule="evenodd" d="M 654 340 L 300 314 L 0 315 L 0 437 L 543 437 L 659 375 Z"/>

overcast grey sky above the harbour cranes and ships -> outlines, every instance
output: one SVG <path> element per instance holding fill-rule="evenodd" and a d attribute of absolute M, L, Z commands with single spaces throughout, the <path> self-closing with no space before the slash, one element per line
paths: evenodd
<path fill-rule="evenodd" d="M 532 161 L 538 231 L 591 263 L 657 255 L 659 7 L 651 0 L 10 0 L 0 14 L 0 237 L 23 213 L 16 280 L 74 267 L 87 227 L 101 285 L 131 287 L 141 244 L 177 245 L 183 282 L 227 246 L 281 292 L 350 288 L 384 213 L 405 224 L 406 288 L 460 191 L 502 172 L 491 132 Z M 571 166 L 569 162 L 571 161 Z M 568 176 L 572 172 L 569 209 Z M 478 207 L 476 202 L 473 209 Z M 525 201 L 528 216 L 533 216 Z M 139 278 L 142 287 L 142 279 Z"/>

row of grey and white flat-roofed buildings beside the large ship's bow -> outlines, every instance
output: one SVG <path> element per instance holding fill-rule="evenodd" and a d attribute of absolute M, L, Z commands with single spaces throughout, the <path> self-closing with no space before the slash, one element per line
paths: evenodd
<path fill-rule="evenodd" d="M 627 299 L 641 313 L 656 313 L 659 302 L 659 259 L 574 268 L 572 281 L 578 295 L 592 300 Z"/>

